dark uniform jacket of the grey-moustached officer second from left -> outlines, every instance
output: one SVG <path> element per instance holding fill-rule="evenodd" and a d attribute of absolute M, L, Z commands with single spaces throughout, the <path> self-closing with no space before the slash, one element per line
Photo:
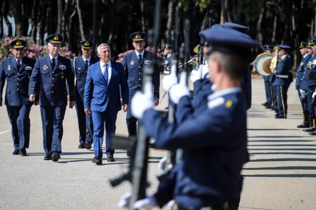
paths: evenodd
<path fill-rule="evenodd" d="M 64 66 L 64 67 L 63 67 Z M 64 70 L 62 68 L 65 68 Z M 53 69 L 50 57 L 46 56 L 37 59 L 29 84 L 29 95 L 36 93 L 40 95 L 40 105 L 61 106 L 67 105 L 67 85 L 69 86 L 70 101 L 75 101 L 74 75 L 71 70 L 69 59 L 58 55 Z M 36 85 L 40 83 L 40 88 Z"/>

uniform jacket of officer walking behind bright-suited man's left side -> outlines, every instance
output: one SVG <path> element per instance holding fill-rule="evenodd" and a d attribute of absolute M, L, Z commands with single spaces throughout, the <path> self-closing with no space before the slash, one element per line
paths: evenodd
<path fill-rule="evenodd" d="M 91 56 L 89 66 L 91 66 L 92 64 L 95 64 L 98 61 L 99 61 L 99 58 Z M 75 61 L 76 70 L 74 69 L 73 60 L 71 63 L 71 68 L 74 74 L 76 74 L 76 83 L 75 83 L 76 100 L 80 98 L 80 100 L 83 102 L 84 86 L 85 86 L 85 80 L 88 74 L 88 70 L 85 69 L 85 64 L 84 64 L 82 56 L 78 57 Z"/>

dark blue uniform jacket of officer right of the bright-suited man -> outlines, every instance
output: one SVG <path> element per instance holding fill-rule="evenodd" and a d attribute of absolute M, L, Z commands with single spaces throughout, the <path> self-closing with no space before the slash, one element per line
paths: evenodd
<path fill-rule="evenodd" d="M 144 67 L 150 64 L 150 58 L 154 58 L 154 54 L 145 50 L 144 56 L 141 63 L 138 63 L 138 58 L 136 52 L 130 52 L 124 56 L 123 68 L 126 74 L 128 88 L 129 88 L 129 99 L 136 93 L 137 90 L 142 90 L 143 83 L 143 70 Z M 156 56 L 155 56 L 156 57 Z M 159 84 L 160 84 L 160 74 L 158 65 L 154 66 L 154 98 L 159 99 Z"/>

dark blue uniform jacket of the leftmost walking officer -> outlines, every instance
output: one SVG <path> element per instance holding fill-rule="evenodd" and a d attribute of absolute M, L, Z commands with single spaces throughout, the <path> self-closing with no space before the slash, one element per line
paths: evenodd
<path fill-rule="evenodd" d="M 0 101 L 2 101 L 2 91 L 6 78 L 5 105 L 19 106 L 33 104 L 29 101 L 28 90 L 35 62 L 35 59 L 24 57 L 20 70 L 18 70 L 15 57 L 2 61 L 0 67 Z"/>

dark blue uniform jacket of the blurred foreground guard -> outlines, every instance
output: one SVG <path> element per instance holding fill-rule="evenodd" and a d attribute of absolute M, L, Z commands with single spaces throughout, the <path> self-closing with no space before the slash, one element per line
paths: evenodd
<path fill-rule="evenodd" d="M 185 103 L 179 103 L 177 112 L 181 112 L 181 105 Z M 210 206 L 212 197 L 240 196 L 240 171 L 248 158 L 246 105 L 241 89 L 214 93 L 207 106 L 203 114 L 180 124 L 168 123 L 154 109 L 146 111 L 142 121 L 146 134 L 155 138 L 157 148 L 183 148 L 172 188 L 175 202 L 188 209 L 190 205 Z M 170 190 L 170 186 L 165 188 Z M 160 195 L 163 200 L 163 193 Z"/>

